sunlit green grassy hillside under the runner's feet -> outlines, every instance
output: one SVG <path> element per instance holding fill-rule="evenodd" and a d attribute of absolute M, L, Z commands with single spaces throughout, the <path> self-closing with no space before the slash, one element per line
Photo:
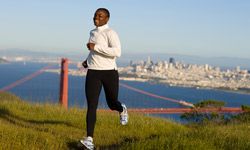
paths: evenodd
<path fill-rule="evenodd" d="M 77 149 L 85 109 L 31 104 L 0 93 L 0 149 Z M 115 112 L 98 112 L 96 149 L 250 149 L 250 124 L 182 125 L 130 113 L 127 126 Z"/>

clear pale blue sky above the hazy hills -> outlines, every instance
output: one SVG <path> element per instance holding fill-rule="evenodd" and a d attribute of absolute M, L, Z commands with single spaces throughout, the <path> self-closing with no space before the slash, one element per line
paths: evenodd
<path fill-rule="evenodd" d="M 0 0 L 0 49 L 88 52 L 99 7 L 123 53 L 250 58 L 249 0 Z"/>

